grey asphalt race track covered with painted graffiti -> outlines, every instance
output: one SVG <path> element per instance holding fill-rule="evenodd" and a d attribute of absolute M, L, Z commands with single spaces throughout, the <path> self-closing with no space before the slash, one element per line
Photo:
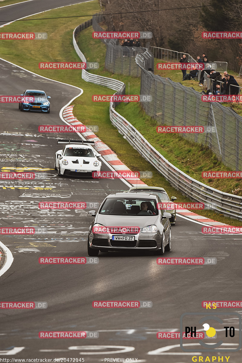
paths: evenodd
<path fill-rule="evenodd" d="M 79 2 L 43 0 L 38 2 L 41 4 L 38 11 Z M 19 19 L 35 12 L 36 0 L 5 7 L 0 9 L 0 24 L 4 19 Z M 43 256 L 87 256 L 87 233 L 92 221 L 85 210 L 40 210 L 39 202 L 101 203 L 106 195 L 128 187 L 119 179 L 58 177 L 54 170 L 57 138 L 70 134 L 41 134 L 38 126 L 62 125 L 60 109 L 80 90 L 61 83 L 57 87 L 52 80 L 2 60 L 0 67 L 4 70 L 0 76 L 4 94 L 20 94 L 33 87 L 45 90 L 52 97 L 50 114 L 20 112 L 17 103 L 1 103 L 0 108 L 1 171 L 24 172 L 32 168 L 35 172 L 48 173 L 44 180 L 0 180 L 0 227 L 34 226 L 48 230 L 48 233 L 25 236 L 1 235 L 1 242 L 11 250 L 14 261 L 0 277 L 0 300 L 47 302 L 48 308 L 0 310 L 0 358 L 192 362 L 192 356 L 201 354 L 199 346 L 198 353 L 187 354 L 181 351 L 179 339 L 158 340 L 156 333 L 180 331 L 181 314 L 206 313 L 201 307 L 204 300 L 239 300 L 241 254 L 238 250 L 242 238 L 202 234 L 200 223 L 178 216 L 172 227 L 172 250 L 164 257 L 216 257 L 216 265 L 162 266 L 156 264 L 157 256 L 153 253 L 137 251 L 99 253 L 99 263 L 95 265 L 39 264 L 38 258 Z M 102 170 L 108 170 L 104 163 Z M 94 309 L 93 300 L 152 301 L 152 308 Z M 219 309 L 224 313 L 229 310 L 242 313 L 242 309 Z M 226 323 L 231 325 L 233 320 Z M 99 338 L 38 338 L 39 331 L 71 330 L 98 331 Z M 227 342 L 237 343 L 233 338 Z M 171 347 L 165 350 L 167 346 Z M 212 352 L 204 355 L 219 357 Z M 232 356 L 233 363 L 242 361 L 240 351 L 220 355 Z"/>

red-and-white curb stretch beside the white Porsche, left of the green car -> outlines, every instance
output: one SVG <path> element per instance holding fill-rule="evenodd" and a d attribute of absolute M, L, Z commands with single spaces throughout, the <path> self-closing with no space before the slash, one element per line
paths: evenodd
<path fill-rule="evenodd" d="M 66 122 L 68 122 L 71 126 L 83 125 L 77 118 L 73 115 L 73 106 L 67 106 L 62 113 L 63 118 Z M 85 125 L 84 125 L 85 126 Z M 89 141 L 94 141 L 94 148 L 102 155 L 103 159 L 112 166 L 117 172 L 132 172 L 121 160 L 119 160 L 118 156 L 108 147 L 102 140 L 100 140 L 97 135 L 93 133 L 88 127 L 86 128 L 86 132 L 81 133 L 82 136 Z M 125 178 L 124 178 L 125 179 Z M 139 178 L 137 179 L 126 179 L 131 185 L 136 184 L 145 184 Z"/>

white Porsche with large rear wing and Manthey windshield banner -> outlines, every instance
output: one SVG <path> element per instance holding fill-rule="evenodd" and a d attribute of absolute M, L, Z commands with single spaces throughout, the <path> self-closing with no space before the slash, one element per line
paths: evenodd
<path fill-rule="evenodd" d="M 58 139 L 58 144 L 67 144 L 56 152 L 55 169 L 59 176 L 92 176 L 94 171 L 101 171 L 101 154 L 91 146 L 94 141 Z"/>

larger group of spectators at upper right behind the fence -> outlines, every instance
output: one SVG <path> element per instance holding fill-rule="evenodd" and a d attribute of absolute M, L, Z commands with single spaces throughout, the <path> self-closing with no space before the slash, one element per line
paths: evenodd
<path fill-rule="evenodd" d="M 223 72 L 223 77 L 221 76 L 220 72 L 216 72 L 212 69 L 212 62 L 208 61 L 208 58 L 205 53 L 202 54 L 202 59 L 200 56 L 197 56 L 198 63 L 204 63 L 204 68 L 201 70 L 200 82 L 199 86 L 203 86 L 205 75 L 208 78 L 213 79 L 211 89 L 208 89 L 207 94 L 234 94 L 237 95 L 239 93 L 239 88 L 235 86 L 239 86 L 237 81 L 233 76 L 228 74 L 227 71 Z M 186 58 L 186 54 L 183 54 L 182 58 L 180 59 L 180 63 L 189 63 L 188 59 Z M 185 81 L 186 79 L 193 79 L 198 76 L 198 70 L 194 67 L 190 70 L 189 74 L 186 74 L 186 70 L 182 70 L 182 80 Z"/>

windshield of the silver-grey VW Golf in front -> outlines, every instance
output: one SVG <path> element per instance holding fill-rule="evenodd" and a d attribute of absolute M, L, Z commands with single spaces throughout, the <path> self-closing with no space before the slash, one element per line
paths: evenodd
<path fill-rule="evenodd" d="M 155 199 L 107 198 L 99 213 L 116 216 L 157 216 L 158 210 Z"/>

